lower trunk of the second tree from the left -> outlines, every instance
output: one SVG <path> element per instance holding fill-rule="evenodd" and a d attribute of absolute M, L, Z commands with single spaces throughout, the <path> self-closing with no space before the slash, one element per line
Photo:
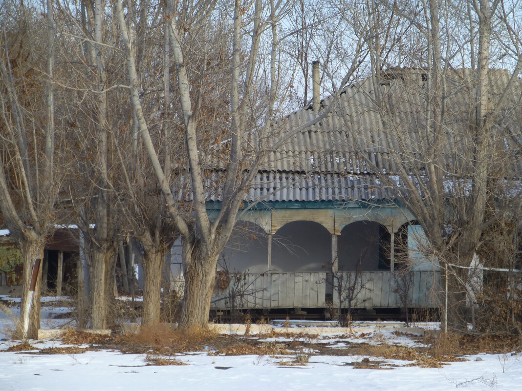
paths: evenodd
<path fill-rule="evenodd" d="M 92 261 L 92 316 L 91 328 L 105 329 L 108 326 L 112 280 L 108 278 L 114 251 L 93 246 Z"/>

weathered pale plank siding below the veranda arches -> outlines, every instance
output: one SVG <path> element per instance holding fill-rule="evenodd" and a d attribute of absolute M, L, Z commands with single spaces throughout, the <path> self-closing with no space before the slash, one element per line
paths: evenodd
<path fill-rule="evenodd" d="M 354 278 L 355 272 L 345 273 Z M 350 275 L 350 276 L 348 276 Z M 236 278 L 237 277 L 237 278 Z M 326 307 L 326 273 L 264 273 L 234 276 L 228 289 L 215 290 L 212 309 L 240 308 L 322 308 Z M 412 272 L 408 307 L 437 307 L 441 291 L 440 272 Z M 390 272 L 362 272 L 363 284 L 353 308 L 402 307 L 397 294 L 397 280 Z M 234 294 L 235 292 L 235 294 Z M 243 292 L 241 294 L 241 292 Z M 231 306 L 231 297 L 235 302 Z M 338 306 L 334 292 L 334 307 Z M 347 303 L 343 303 L 346 307 Z"/>

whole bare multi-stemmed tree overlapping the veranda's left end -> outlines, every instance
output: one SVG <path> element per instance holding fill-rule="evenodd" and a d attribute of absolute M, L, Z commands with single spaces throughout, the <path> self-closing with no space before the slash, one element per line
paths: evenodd
<path fill-rule="evenodd" d="M 135 44 L 132 40 L 134 26 L 132 22 L 128 22 L 128 11 L 127 22 L 125 21 L 123 7 L 119 2 L 116 3 L 116 9 L 125 44 L 131 102 L 138 119 L 141 140 L 149 154 L 170 217 L 183 237 L 185 292 L 180 326 L 206 327 L 218 255 L 226 246 L 238 218 L 238 211 L 243 206 L 244 191 L 256 173 L 255 165 L 260 159 L 262 139 L 270 130 L 274 116 L 279 82 L 279 69 L 276 67 L 279 45 L 277 25 L 288 6 L 282 2 L 264 3 L 258 0 L 251 6 L 243 7 L 241 2 L 236 1 L 230 23 L 227 24 L 222 22 L 230 17 L 225 3 L 209 1 L 185 7 L 167 2 L 164 23 L 168 26 L 176 69 L 178 113 L 182 119 L 184 155 L 187 156 L 184 177 L 190 182 L 192 197 L 193 213 L 190 215 L 183 214 L 180 210 L 180 203 L 174 197 L 151 140 L 150 124 L 139 96 L 141 85 L 136 72 L 136 57 L 132 51 Z M 208 39 L 213 26 L 222 28 L 219 42 Z M 193 36 L 200 37 L 201 40 L 191 41 Z M 269 38 L 265 40 L 265 36 Z M 248 41 L 246 47 L 245 40 Z M 191 46 L 193 44 L 198 46 L 200 57 L 196 64 L 192 64 L 195 67 L 189 67 L 189 53 L 194 51 Z M 263 44 L 267 44 L 270 52 L 267 60 L 269 69 L 266 73 L 260 52 Z M 229 67 L 227 85 L 230 109 L 224 121 L 222 117 L 204 118 L 206 113 L 202 110 L 207 91 L 203 86 L 216 82 L 209 78 L 216 66 L 212 62 L 212 57 L 216 56 L 211 53 L 220 46 L 230 49 L 227 49 L 229 56 L 226 59 Z M 242 71 L 245 72 L 243 76 Z M 268 82 L 263 85 L 263 81 L 267 79 Z M 214 121 L 219 133 L 215 130 L 208 132 L 210 127 L 204 126 L 205 121 L 207 124 Z M 227 141 L 216 144 L 219 140 Z M 204 172 L 205 168 L 211 169 L 213 176 L 209 177 L 209 171 Z M 207 213 L 206 201 L 212 192 L 219 195 L 221 209 L 211 218 Z"/>

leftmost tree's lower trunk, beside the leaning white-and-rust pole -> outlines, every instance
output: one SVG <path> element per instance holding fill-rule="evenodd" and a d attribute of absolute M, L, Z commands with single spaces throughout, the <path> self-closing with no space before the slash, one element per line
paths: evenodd
<path fill-rule="evenodd" d="M 16 335 L 22 338 L 38 337 L 38 329 L 40 328 L 40 290 L 42 282 L 42 262 L 38 270 L 38 278 L 34 287 L 34 294 L 29 291 L 31 285 L 31 277 L 33 273 L 34 261 L 39 255 L 43 258 L 43 240 L 41 239 L 22 239 L 20 240 L 20 251 L 23 257 L 23 282 L 22 282 L 22 303 L 20 309 L 20 323 Z M 26 323 L 27 306 L 31 306 L 29 313 L 29 328 L 27 335 L 23 335 L 23 325 Z"/>

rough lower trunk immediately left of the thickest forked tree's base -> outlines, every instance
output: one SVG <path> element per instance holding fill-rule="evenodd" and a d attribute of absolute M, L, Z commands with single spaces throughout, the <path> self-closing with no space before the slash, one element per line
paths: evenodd
<path fill-rule="evenodd" d="M 150 326 L 160 323 L 161 277 L 165 251 L 154 249 L 143 257 L 145 285 L 143 287 L 143 314 L 141 324 Z"/>

